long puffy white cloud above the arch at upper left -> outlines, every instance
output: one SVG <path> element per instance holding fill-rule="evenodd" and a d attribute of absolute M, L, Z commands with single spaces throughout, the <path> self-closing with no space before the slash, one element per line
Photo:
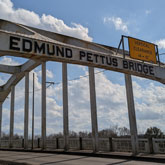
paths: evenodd
<path fill-rule="evenodd" d="M 40 17 L 33 11 L 15 9 L 11 0 L 0 0 L 0 18 L 92 41 L 88 28 L 76 23 L 72 23 L 70 27 L 51 15 L 43 14 Z"/>

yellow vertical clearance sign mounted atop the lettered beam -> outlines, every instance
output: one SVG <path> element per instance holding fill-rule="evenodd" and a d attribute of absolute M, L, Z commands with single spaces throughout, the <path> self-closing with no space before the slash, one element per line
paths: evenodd
<path fill-rule="evenodd" d="M 128 38 L 130 57 L 156 63 L 155 45 L 135 38 Z"/>

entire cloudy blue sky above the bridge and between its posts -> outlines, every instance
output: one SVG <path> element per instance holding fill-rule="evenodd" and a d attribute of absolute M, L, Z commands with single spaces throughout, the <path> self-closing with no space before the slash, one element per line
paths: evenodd
<path fill-rule="evenodd" d="M 0 19 L 118 47 L 121 35 L 158 45 L 165 52 L 164 0 L 0 0 Z M 161 62 L 165 56 L 160 55 Z M 0 57 L 1 64 L 20 65 L 27 59 Z M 47 62 L 47 134 L 63 131 L 61 63 Z M 100 72 L 101 71 L 101 72 Z M 35 73 L 35 135 L 41 134 L 41 66 L 30 72 L 29 135 L 32 75 Z M 99 130 L 129 128 L 124 75 L 95 68 Z M 91 131 L 88 68 L 68 64 L 69 129 Z M 0 73 L 0 85 L 11 75 Z M 85 76 L 85 77 L 84 77 Z M 156 126 L 165 132 L 165 87 L 132 76 L 138 133 Z M 48 86 L 48 84 L 47 84 Z M 3 104 L 2 131 L 9 132 L 10 95 Z M 16 86 L 14 133 L 23 135 L 24 79 Z"/>

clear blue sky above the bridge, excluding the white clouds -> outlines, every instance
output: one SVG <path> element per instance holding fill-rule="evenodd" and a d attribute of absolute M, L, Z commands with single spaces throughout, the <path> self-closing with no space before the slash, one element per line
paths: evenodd
<path fill-rule="evenodd" d="M 122 34 L 131 35 L 154 42 L 165 37 L 163 22 L 163 0 L 14 0 L 14 8 L 34 11 L 40 16 L 45 13 L 71 23 L 81 24 L 89 29 L 94 42 L 118 46 Z M 105 18 L 121 18 L 128 32 L 117 30 L 111 21 Z"/>

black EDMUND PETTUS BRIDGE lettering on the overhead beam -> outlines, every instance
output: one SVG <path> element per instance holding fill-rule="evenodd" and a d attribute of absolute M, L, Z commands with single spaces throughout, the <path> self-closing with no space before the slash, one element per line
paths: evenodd
<path fill-rule="evenodd" d="M 76 54 L 74 54 L 75 51 L 73 48 L 63 47 L 49 42 L 33 41 L 31 39 L 16 36 L 10 36 L 9 49 L 24 53 L 56 56 L 66 59 L 74 59 L 74 56 L 79 56 L 79 61 L 98 63 L 105 66 L 111 66 L 113 68 L 119 67 L 119 60 L 116 57 L 82 50 L 79 50 L 78 53 L 76 52 Z M 122 69 L 154 76 L 154 69 L 152 65 L 141 64 L 126 59 L 122 59 Z"/>

